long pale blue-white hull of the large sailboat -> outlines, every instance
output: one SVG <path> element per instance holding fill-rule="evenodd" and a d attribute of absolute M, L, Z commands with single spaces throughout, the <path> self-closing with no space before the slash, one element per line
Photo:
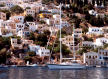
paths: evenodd
<path fill-rule="evenodd" d="M 84 69 L 83 65 L 62 65 L 62 64 L 48 64 L 49 69 Z"/>

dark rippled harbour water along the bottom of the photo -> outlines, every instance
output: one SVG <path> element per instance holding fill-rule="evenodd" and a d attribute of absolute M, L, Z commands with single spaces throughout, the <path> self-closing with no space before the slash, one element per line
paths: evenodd
<path fill-rule="evenodd" d="M 49 70 L 48 68 L 0 68 L 0 79 L 108 79 L 108 68 Z"/>

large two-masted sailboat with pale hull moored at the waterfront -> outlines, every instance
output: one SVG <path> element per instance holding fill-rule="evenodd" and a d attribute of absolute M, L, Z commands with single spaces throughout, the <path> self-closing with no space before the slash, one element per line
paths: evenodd
<path fill-rule="evenodd" d="M 74 48 L 74 27 L 73 27 L 73 58 L 62 58 L 62 41 L 61 41 L 61 4 L 60 4 L 60 64 L 47 64 L 49 69 L 84 69 L 85 65 L 81 65 L 76 62 L 75 48 Z M 62 62 L 62 59 L 73 59 L 72 62 Z"/>

